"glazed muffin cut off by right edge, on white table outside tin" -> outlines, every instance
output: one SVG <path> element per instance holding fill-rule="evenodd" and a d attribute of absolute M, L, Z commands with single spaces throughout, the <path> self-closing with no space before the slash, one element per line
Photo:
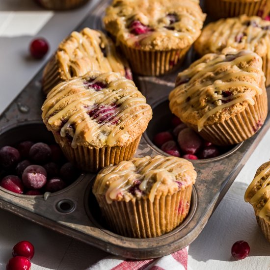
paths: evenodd
<path fill-rule="evenodd" d="M 244 200 L 249 202 L 255 212 L 255 216 L 264 236 L 270 242 L 270 161 L 262 164 L 255 178 L 248 186 L 244 194 Z"/>

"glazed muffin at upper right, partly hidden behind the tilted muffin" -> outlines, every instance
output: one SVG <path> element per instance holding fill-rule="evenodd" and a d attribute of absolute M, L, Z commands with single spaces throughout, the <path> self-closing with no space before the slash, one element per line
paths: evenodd
<path fill-rule="evenodd" d="M 270 22 L 246 15 L 207 25 L 194 44 L 200 55 L 220 53 L 225 47 L 250 50 L 263 58 L 266 85 L 270 84 Z"/>

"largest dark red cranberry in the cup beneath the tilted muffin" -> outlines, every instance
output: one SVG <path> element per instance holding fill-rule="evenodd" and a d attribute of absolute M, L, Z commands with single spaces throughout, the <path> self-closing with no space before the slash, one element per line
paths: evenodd
<path fill-rule="evenodd" d="M 192 129 L 186 128 L 178 134 L 178 143 L 186 154 L 195 154 L 202 146 L 202 139 Z"/>

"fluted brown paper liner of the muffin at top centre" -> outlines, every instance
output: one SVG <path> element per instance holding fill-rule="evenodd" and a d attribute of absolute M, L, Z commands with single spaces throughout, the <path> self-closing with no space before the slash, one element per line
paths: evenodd
<path fill-rule="evenodd" d="M 160 76 L 179 67 L 189 48 L 170 51 L 143 51 L 126 46 L 120 47 L 129 60 L 132 71 L 146 76 Z"/>

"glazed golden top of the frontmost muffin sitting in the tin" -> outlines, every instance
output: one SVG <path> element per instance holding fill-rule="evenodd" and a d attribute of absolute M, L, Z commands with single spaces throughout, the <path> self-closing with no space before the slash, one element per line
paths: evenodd
<path fill-rule="evenodd" d="M 197 173 L 191 162 L 156 156 L 134 158 L 102 169 L 94 182 L 93 193 L 105 195 L 107 203 L 171 195 L 195 183 Z"/>

